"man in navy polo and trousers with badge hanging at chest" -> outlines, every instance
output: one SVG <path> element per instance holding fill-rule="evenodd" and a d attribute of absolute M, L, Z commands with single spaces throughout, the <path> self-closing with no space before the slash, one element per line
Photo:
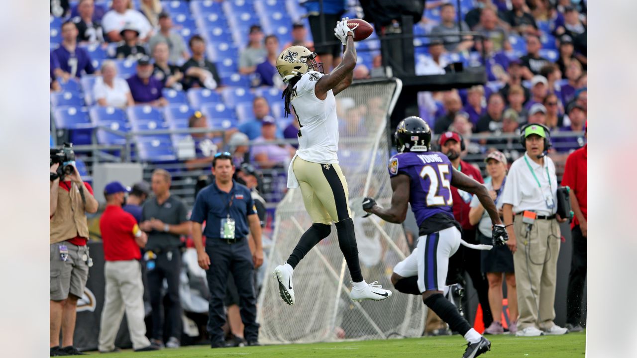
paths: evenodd
<path fill-rule="evenodd" d="M 212 348 L 224 347 L 224 297 L 228 273 L 234 277 L 239 294 L 243 336 L 248 345 L 259 345 L 257 299 L 254 292 L 254 269 L 263 263 L 261 223 L 250 189 L 233 180 L 234 164 L 230 153 L 218 153 L 212 160 L 213 183 L 197 194 L 192 209 L 192 239 L 197 261 L 206 269 L 210 305 L 208 333 Z M 201 224 L 206 222 L 202 241 Z M 254 254 L 248 245 L 248 226 L 254 240 Z"/>

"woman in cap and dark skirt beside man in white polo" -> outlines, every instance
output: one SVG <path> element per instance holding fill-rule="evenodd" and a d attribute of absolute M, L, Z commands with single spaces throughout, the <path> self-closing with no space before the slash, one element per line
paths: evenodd
<path fill-rule="evenodd" d="M 485 183 L 485 187 L 489 190 L 489 194 L 496 203 L 497 209 L 502 213 L 502 192 L 506 183 L 506 156 L 497 150 L 490 152 L 485 158 L 487 163 L 487 173 L 491 180 Z M 481 244 L 492 245 L 491 241 L 491 219 L 489 213 L 484 210 L 482 204 L 475 195 L 471 199 L 471 210 L 469 210 L 469 223 L 478 225 L 478 241 Z M 501 214 L 500 214 L 501 215 Z M 505 333 L 502 326 L 502 279 L 506 282 L 506 297 L 508 299 L 509 317 L 511 324 L 509 332 L 517 331 L 515 320 L 517 320 L 517 292 L 515 288 L 515 269 L 513 268 L 513 254 L 506 246 L 496 246 L 491 250 L 480 251 L 480 268 L 483 275 L 487 276 L 489 282 L 489 307 L 493 322 L 487 329 L 485 334 L 503 334 Z"/>

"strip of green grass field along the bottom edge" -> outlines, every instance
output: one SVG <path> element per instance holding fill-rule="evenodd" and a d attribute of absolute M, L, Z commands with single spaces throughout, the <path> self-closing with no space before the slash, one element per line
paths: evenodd
<path fill-rule="evenodd" d="M 509 335 L 487 336 L 491 351 L 480 357 L 507 358 L 568 358 L 583 357 L 585 333 L 564 336 L 517 338 Z M 191 358 L 191 357 L 248 357 L 248 358 L 303 358 L 303 357 L 436 357 L 460 358 L 465 341 L 461 336 L 408 338 L 404 340 L 376 340 L 340 343 L 313 343 L 307 345 L 270 345 L 262 347 L 216 348 L 208 346 L 164 349 L 157 352 L 134 353 L 124 351 L 99 354 L 117 358 Z M 94 353 L 97 354 L 97 353 Z"/>

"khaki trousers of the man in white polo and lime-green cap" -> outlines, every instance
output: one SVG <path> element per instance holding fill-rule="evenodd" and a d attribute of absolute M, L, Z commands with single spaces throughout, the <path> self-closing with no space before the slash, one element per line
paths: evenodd
<path fill-rule="evenodd" d="M 555 319 L 555 283 L 560 229 L 557 220 L 535 220 L 527 236 L 522 215 L 513 223 L 517 251 L 513 254 L 520 318 L 517 329 L 549 329 Z"/>

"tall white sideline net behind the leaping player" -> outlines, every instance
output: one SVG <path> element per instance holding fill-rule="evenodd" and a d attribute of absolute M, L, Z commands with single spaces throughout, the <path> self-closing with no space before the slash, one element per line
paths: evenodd
<path fill-rule="evenodd" d="M 259 296 L 259 339 L 263 343 L 370 340 L 421 336 L 426 308 L 419 296 L 393 289 L 392 268 L 409 255 L 403 228 L 372 215 L 362 218 L 362 197 L 390 203 L 387 173 L 390 141 L 387 125 L 400 80 L 355 82 L 336 97 L 340 122 L 338 159 L 347 179 L 362 274 L 394 294 L 385 301 L 354 303 L 351 277 L 338 245 L 336 227 L 294 270 L 293 306 L 283 303 L 271 272 L 289 257 L 301 234 L 311 226 L 300 189 L 290 189 L 278 204 L 268 275 Z M 354 211 L 359 211 L 357 215 Z"/>

